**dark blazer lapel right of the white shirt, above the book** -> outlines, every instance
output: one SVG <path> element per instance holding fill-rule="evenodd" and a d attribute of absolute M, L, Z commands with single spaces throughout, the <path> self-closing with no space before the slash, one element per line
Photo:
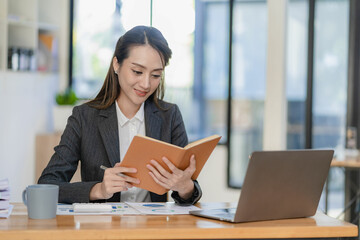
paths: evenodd
<path fill-rule="evenodd" d="M 161 140 L 163 120 L 158 116 L 159 109 L 152 101 L 145 102 L 145 132 L 146 136 Z"/>

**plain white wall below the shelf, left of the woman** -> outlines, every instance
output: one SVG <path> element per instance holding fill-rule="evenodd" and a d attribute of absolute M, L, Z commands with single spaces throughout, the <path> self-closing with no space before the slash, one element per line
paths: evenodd
<path fill-rule="evenodd" d="M 8 178 L 11 201 L 35 183 L 35 136 L 52 130 L 58 77 L 0 72 L 0 178 Z"/>

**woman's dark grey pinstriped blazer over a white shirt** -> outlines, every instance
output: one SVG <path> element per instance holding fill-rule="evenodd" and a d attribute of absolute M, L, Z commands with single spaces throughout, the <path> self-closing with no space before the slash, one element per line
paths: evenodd
<path fill-rule="evenodd" d="M 184 147 L 188 143 L 184 122 L 175 104 L 159 101 L 165 110 L 151 100 L 145 102 L 146 135 Z M 91 188 L 102 181 L 104 171 L 99 167 L 112 167 L 120 162 L 119 134 L 115 104 L 104 110 L 88 104 L 76 106 L 61 136 L 60 144 L 42 172 L 38 183 L 59 186 L 59 202 L 89 202 Z M 81 161 L 81 182 L 70 183 L 78 162 Z M 172 193 L 175 202 L 194 204 L 201 197 L 199 184 L 194 181 L 195 191 L 190 199 L 181 199 Z M 167 194 L 150 193 L 153 202 L 165 202 Z M 120 193 L 106 201 L 120 201 Z"/>

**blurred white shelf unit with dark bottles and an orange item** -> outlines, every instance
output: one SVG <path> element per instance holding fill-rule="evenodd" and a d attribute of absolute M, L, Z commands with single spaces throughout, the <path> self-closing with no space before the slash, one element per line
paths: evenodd
<path fill-rule="evenodd" d="M 0 0 L 0 71 L 58 74 L 67 11 L 64 0 Z M 8 56 L 13 53 L 14 58 Z M 19 60 L 14 61 L 17 56 Z M 31 56 L 35 59 L 30 61 Z M 15 69 L 28 69 L 31 62 L 32 70 L 8 70 L 9 58 Z"/>

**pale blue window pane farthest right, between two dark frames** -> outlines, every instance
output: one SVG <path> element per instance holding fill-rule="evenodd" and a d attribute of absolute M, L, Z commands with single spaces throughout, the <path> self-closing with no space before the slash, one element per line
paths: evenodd
<path fill-rule="evenodd" d="M 345 147 L 348 20 L 348 0 L 316 2 L 312 120 L 314 148 Z M 344 206 L 344 174 L 341 169 L 332 169 L 329 178 L 329 214 L 337 217 Z"/>

